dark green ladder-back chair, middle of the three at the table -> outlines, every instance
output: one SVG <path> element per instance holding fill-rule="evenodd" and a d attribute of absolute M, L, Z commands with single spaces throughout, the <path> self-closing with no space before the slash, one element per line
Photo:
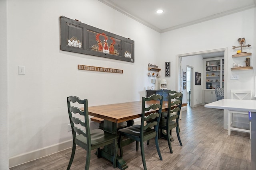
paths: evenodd
<path fill-rule="evenodd" d="M 151 104 L 147 106 L 145 103 L 147 101 L 155 100 L 155 104 Z M 157 101 L 160 100 L 160 101 Z M 126 127 L 124 129 L 119 129 L 119 139 L 118 145 L 120 148 L 120 156 L 123 156 L 122 149 L 122 139 L 123 137 L 132 139 L 136 141 L 136 150 L 138 150 L 138 142 L 140 142 L 140 152 L 143 162 L 144 170 L 147 169 L 145 155 L 144 155 L 144 141 L 148 141 L 149 139 L 155 138 L 156 149 L 159 155 L 160 160 L 162 160 L 162 156 L 160 153 L 160 148 L 158 144 L 158 126 L 159 121 L 162 115 L 162 103 L 163 96 L 159 94 L 153 94 L 152 96 L 145 98 L 142 97 L 142 113 L 141 113 L 141 122 L 140 125 L 133 125 L 130 127 Z M 147 111 L 152 111 L 150 115 L 145 116 Z"/>

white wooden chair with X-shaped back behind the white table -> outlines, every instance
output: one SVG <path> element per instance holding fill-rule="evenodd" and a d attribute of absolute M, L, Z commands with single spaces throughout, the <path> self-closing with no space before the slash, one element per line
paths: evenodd
<path fill-rule="evenodd" d="M 238 100 L 252 100 L 252 90 L 231 90 L 231 99 Z M 239 122 L 239 119 L 242 117 L 237 117 L 237 122 L 234 120 L 234 114 L 244 114 L 244 118 L 248 121 L 249 129 L 243 129 L 243 127 L 233 127 L 233 125 Z M 246 122 L 247 123 L 247 122 Z M 228 135 L 231 134 L 231 131 L 242 131 L 250 133 L 251 139 L 251 122 L 248 120 L 248 111 L 228 111 Z"/>

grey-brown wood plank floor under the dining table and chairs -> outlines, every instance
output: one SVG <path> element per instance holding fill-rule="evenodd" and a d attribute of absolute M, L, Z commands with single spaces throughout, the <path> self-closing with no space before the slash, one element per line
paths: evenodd
<path fill-rule="evenodd" d="M 149 170 L 250 170 L 251 141 L 247 133 L 232 132 L 223 129 L 223 110 L 204 106 L 188 107 L 182 111 L 180 121 L 179 145 L 175 130 L 172 131 L 173 154 L 168 143 L 160 139 L 163 160 L 159 160 L 154 139 L 150 145 L 144 143 L 146 165 Z M 66 170 L 71 148 L 45 156 L 43 158 L 10 168 L 10 170 Z M 90 169 L 114 169 L 110 161 L 97 158 L 92 151 Z M 86 151 L 77 147 L 71 170 L 82 170 L 85 166 Z M 124 160 L 131 170 L 142 170 L 140 149 L 136 151 L 135 143 L 124 147 Z M 118 168 L 116 168 L 118 169 Z"/>

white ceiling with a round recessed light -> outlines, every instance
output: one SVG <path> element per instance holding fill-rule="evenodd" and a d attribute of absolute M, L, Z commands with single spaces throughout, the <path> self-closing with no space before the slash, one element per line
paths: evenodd
<path fill-rule="evenodd" d="M 99 0 L 163 33 L 254 8 L 256 0 Z M 162 14 L 156 10 L 162 9 Z"/>

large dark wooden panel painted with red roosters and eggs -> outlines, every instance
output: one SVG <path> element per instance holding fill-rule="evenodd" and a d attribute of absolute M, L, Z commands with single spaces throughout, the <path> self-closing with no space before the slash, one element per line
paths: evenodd
<path fill-rule="evenodd" d="M 134 41 L 60 16 L 60 49 L 134 63 Z"/>

